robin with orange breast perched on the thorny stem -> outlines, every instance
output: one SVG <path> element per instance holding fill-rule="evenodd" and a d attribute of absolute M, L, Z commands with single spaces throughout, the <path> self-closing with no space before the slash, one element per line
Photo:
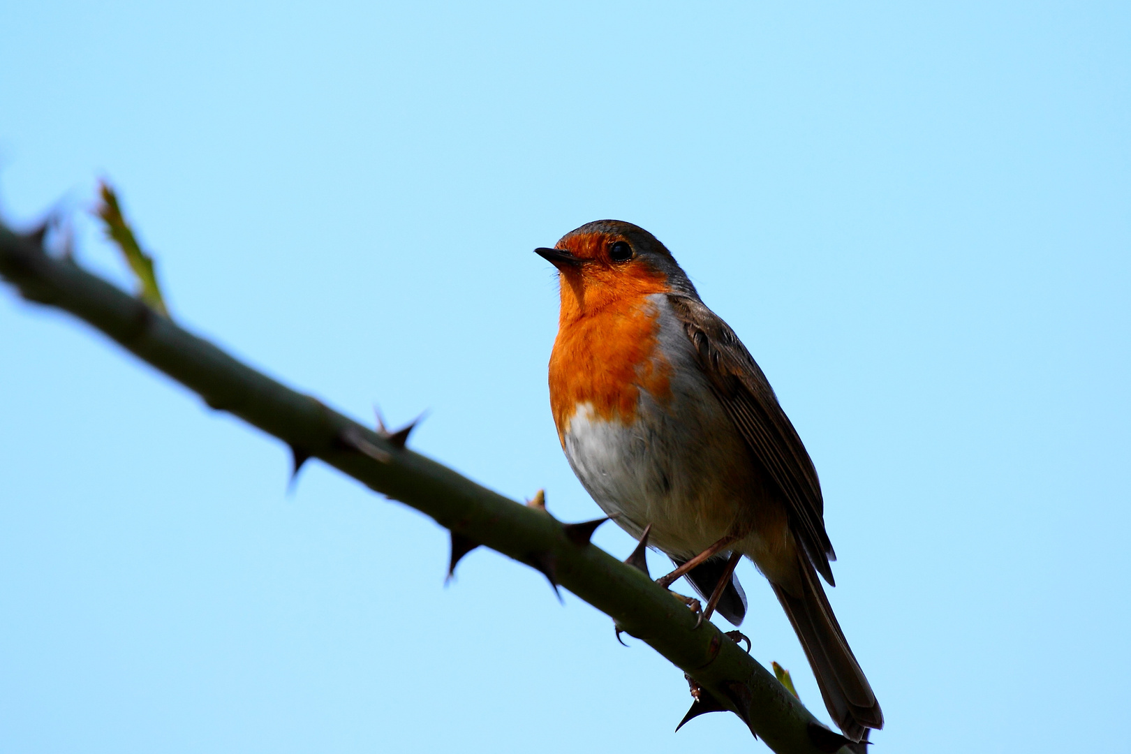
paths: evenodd
<path fill-rule="evenodd" d="M 741 623 L 734 567 L 770 582 L 824 705 L 852 740 L 883 713 L 820 579 L 836 553 L 813 462 L 769 381 L 651 233 L 595 220 L 534 250 L 558 269 L 550 405 L 594 501 L 679 566 L 711 610 Z M 820 578 L 819 578 L 820 577 Z"/>

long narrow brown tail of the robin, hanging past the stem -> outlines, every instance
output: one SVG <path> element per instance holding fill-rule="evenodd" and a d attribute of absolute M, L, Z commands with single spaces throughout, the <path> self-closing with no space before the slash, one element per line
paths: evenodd
<path fill-rule="evenodd" d="M 865 728 L 883 727 L 883 712 L 864 671 L 848 649 L 817 573 L 804 561 L 800 565 L 801 588 L 794 590 L 797 593 L 791 593 L 776 583 L 772 584 L 774 593 L 797 632 L 829 714 L 845 736 L 860 740 Z"/>

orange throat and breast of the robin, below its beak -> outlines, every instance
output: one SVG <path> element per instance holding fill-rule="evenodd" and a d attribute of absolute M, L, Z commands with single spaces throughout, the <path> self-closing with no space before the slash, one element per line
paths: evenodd
<path fill-rule="evenodd" d="M 671 364 L 658 348 L 659 319 L 647 296 L 667 291 L 657 278 L 634 278 L 619 291 L 594 291 L 562 275 L 562 311 L 550 357 L 550 407 L 564 445 L 569 419 L 589 404 L 605 421 L 636 421 L 640 390 L 671 398 Z M 615 295 L 610 295 L 614 294 Z"/>

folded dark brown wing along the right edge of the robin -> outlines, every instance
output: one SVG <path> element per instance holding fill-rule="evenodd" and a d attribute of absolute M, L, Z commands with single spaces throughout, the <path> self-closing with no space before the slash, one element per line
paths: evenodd
<path fill-rule="evenodd" d="M 697 298 L 668 295 L 710 379 L 715 395 L 746 441 L 754 460 L 785 499 L 794 537 L 829 584 L 829 561 L 837 560 L 824 531 L 821 483 L 805 447 L 782 410 L 769 381 L 726 322 Z"/>

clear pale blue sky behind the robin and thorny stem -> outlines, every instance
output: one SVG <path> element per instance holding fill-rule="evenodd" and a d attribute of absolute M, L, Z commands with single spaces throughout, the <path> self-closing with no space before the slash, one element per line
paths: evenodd
<path fill-rule="evenodd" d="M 0 7 L 0 185 L 100 175 L 176 319 L 564 520 L 551 266 L 674 252 L 812 454 L 875 752 L 1120 751 L 1131 11 L 1116 2 Z M 129 284 L 88 222 L 79 257 Z M 536 572 L 0 294 L 0 751 L 766 751 Z M 604 527 L 598 544 L 632 543 Z M 663 567 L 656 556 L 653 570 Z M 743 631 L 822 717 L 749 564 Z"/>

